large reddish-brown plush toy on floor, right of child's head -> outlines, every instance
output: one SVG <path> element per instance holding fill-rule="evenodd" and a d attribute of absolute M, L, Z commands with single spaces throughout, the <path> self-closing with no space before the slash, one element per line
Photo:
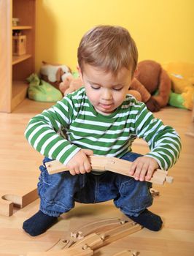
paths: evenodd
<path fill-rule="evenodd" d="M 158 62 L 140 61 L 131 83 L 131 89 L 141 91 L 141 101 L 147 105 L 149 110 L 156 112 L 168 104 L 171 79 Z"/>

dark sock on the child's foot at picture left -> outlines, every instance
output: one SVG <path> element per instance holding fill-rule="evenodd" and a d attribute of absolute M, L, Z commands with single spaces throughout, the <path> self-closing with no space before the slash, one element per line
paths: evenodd
<path fill-rule="evenodd" d="M 39 236 L 44 233 L 49 227 L 53 226 L 58 221 L 58 217 L 52 217 L 38 211 L 30 219 L 23 222 L 23 229 L 31 236 Z"/>

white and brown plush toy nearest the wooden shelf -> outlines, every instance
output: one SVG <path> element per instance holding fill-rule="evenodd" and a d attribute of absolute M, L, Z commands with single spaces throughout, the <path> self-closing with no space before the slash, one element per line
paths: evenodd
<path fill-rule="evenodd" d="M 59 88 L 59 84 L 71 75 L 71 69 L 66 65 L 61 64 L 49 64 L 42 61 L 42 67 L 40 68 L 40 77 L 42 80 L 55 86 L 56 89 Z"/>

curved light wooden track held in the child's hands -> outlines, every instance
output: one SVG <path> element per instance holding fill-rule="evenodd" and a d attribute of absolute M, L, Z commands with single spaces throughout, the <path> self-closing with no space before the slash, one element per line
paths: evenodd
<path fill-rule="evenodd" d="M 130 176 L 133 178 L 133 176 L 129 175 L 129 170 L 131 167 L 132 162 L 119 159 L 116 157 L 98 157 L 98 156 L 90 156 L 89 157 L 92 169 L 96 171 L 104 171 L 109 170 L 114 173 L 120 173 L 125 176 Z M 68 167 L 61 164 L 58 160 L 54 160 L 51 162 L 46 163 L 47 171 L 50 174 L 54 173 L 60 173 L 63 171 L 68 170 Z M 150 180 L 147 180 L 149 182 L 152 182 L 153 184 L 160 184 L 163 185 L 164 182 L 172 183 L 173 177 L 168 176 L 168 172 L 166 170 L 155 170 L 155 173 L 153 174 L 152 178 Z"/>

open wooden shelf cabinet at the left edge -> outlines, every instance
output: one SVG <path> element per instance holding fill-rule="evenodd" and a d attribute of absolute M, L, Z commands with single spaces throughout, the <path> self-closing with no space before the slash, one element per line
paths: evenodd
<path fill-rule="evenodd" d="M 0 0 L 0 111 L 10 113 L 26 98 L 34 72 L 36 0 Z M 12 18 L 19 18 L 12 26 Z M 26 54 L 12 56 L 13 31 L 26 35 Z"/>

